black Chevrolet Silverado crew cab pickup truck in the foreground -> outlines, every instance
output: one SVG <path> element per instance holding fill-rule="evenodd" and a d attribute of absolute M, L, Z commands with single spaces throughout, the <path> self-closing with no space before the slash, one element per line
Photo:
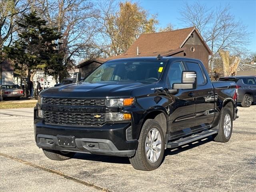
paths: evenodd
<path fill-rule="evenodd" d="M 166 148 L 210 135 L 228 142 L 236 98 L 236 84 L 211 82 L 200 60 L 110 60 L 81 82 L 42 91 L 34 136 L 52 160 L 125 156 L 135 169 L 154 170 Z"/>

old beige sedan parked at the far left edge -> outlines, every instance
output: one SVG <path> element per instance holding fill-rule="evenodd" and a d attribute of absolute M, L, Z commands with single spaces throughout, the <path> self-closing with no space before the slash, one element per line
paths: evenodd
<path fill-rule="evenodd" d="M 23 90 L 18 85 L 1 85 L 0 86 L 0 100 L 4 98 L 16 98 L 24 96 Z"/>

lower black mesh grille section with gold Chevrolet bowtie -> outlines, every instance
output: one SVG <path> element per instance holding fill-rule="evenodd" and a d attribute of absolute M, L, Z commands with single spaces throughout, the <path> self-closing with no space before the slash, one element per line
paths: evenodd
<path fill-rule="evenodd" d="M 102 126 L 105 122 L 105 114 L 44 111 L 44 120 L 46 124 Z"/>

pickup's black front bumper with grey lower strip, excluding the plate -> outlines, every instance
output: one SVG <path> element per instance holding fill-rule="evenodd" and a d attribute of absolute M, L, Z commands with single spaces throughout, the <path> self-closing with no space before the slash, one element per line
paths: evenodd
<path fill-rule="evenodd" d="M 130 126 L 129 122 L 108 123 L 102 127 L 57 126 L 35 119 L 34 135 L 36 145 L 43 149 L 130 157 L 138 146 L 138 140 L 126 140 Z M 57 139 L 60 135 L 74 136 L 75 147 L 60 146 Z"/>

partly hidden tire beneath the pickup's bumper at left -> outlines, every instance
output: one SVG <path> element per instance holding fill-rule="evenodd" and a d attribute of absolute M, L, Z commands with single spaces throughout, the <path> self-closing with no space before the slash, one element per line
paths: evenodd
<path fill-rule="evenodd" d="M 56 161 L 64 161 L 72 158 L 75 152 L 61 152 L 61 151 L 55 151 L 50 149 L 43 149 L 44 155 L 51 159 Z"/>

